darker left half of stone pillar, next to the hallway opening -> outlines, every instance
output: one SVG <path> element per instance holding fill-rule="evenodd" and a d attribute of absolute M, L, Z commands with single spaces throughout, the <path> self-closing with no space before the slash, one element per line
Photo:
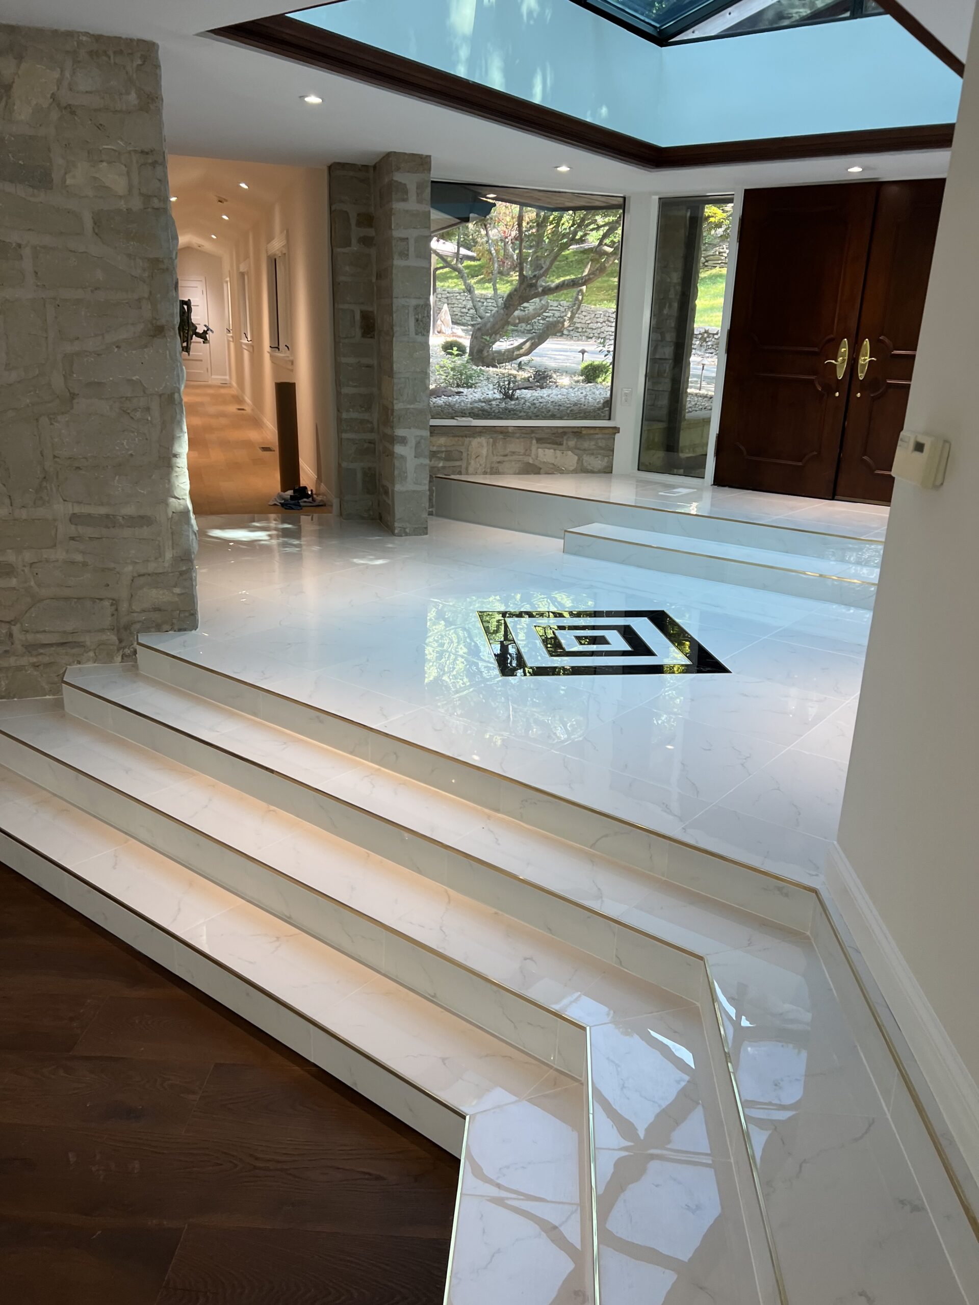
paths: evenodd
<path fill-rule="evenodd" d="M 371 168 L 333 163 L 330 247 L 341 515 L 377 519 L 377 343 Z"/>

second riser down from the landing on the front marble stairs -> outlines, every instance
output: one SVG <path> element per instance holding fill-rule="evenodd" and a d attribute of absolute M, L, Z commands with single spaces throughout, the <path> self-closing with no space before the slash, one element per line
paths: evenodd
<path fill-rule="evenodd" d="M 640 936 L 491 864 L 471 860 L 407 829 L 392 826 L 371 812 L 350 808 L 326 793 L 317 793 L 244 758 L 189 739 L 69 683 L 64 685 L 64 702 L 72 715 L 89 724 L 151 748 L 329 834 L 444 883 L 491 910 L 514 916 L 570 946 L 620 966 L 638 979 L 670 988 L 691 1001 L 700 1000 L 704 966 L 696 957 Z"/>

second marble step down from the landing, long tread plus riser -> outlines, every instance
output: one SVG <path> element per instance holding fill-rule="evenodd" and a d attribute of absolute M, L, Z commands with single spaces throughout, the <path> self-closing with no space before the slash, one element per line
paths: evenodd
<path fill-rule="evenodd" d="M 677 994 L 70 715 L 4 720 L 0 761 L 578 1078 L 590 1024 L 696 1000 L 691 958 L 670 974 Z"/>

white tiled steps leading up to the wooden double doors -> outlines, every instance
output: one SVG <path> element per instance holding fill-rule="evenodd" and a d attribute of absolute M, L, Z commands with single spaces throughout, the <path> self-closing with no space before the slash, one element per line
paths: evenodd
<path fill-rule="evenodd" d="M 550 493 L 543 484 L 517 488 L 453 476 L 436 478 L 436 513 L 563 536 L 564 552 L 580 557 L 863 608 L 873 607 L 884 549 L 881 540 L 727 517 L 718 510 L 610 502 Z"/>

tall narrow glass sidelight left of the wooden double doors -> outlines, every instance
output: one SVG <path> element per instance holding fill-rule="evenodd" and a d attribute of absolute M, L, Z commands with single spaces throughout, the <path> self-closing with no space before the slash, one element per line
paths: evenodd
<path fill-rule="evenodd" d="M 660 201 L 640 471 L 705 474 L 732 210 Z"/>

